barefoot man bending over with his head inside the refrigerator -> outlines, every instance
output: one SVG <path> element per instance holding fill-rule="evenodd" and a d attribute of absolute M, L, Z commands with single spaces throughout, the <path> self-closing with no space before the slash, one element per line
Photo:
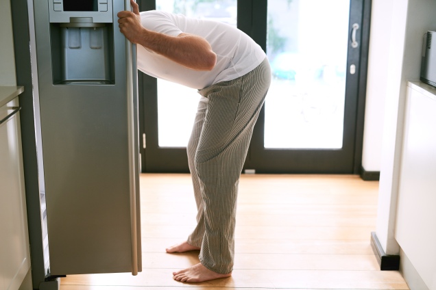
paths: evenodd
<path fill-rule="evenodd" d="M 197 226 L 167 252 L 200 250 L 181 282 L 231 276 L 239 176 L 271 81 L 265 53 L 238 29 L 167 12 L 119 12 L 119 28 L 138 44 L 138 69 L 202 95 L 189 144 Z"/>

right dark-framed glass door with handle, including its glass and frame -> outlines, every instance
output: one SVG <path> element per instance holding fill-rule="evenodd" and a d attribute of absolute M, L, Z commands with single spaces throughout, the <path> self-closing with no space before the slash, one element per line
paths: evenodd
<path fill-rule="evenodd" d="M 253 5 L 252 23 L 265 17 L 265 27 L 244 31 L 265 39 L 272 82 L 244 168 L 354 173 L 364 1 Z"/>

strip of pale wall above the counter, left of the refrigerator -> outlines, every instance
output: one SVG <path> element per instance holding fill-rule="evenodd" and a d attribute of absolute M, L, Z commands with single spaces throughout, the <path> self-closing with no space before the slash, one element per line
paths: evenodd
<path fill-rule="evenodd" d="M 10 1 L 1 1 L 0 39 L 0 85 L 16 85 Z"/>

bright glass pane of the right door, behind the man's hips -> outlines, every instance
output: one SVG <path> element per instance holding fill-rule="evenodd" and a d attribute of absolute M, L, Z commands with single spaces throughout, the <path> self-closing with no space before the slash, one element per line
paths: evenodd
<path fill-rule="evenodd" d="M 265 148 L 342 148 L 350 0 L 269 0 Z"/>

